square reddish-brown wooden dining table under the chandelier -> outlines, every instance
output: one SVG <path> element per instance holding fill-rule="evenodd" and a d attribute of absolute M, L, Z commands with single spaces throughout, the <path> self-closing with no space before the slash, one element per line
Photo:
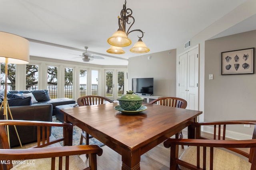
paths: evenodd
<path fill-rule="evenodd" d="M 122 155 L 122 170 L 140 170 L 140 156 L 190 126 L 202 111 L 146 104 L 140 113 L 122 113 L 118 103 L 61 109 L 64 121 L 72 123 Z M 71 139 L 72 140 L 72 139 Z M 104 153 L 103 153 L 104 154 Z"/>

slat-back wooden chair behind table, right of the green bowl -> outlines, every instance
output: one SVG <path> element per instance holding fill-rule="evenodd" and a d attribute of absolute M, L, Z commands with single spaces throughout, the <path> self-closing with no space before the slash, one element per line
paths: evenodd
<path fill-rule="evenodd" d="M 169 107 L 178 107 L 182 109 L 186 109 L 188 103 L 186 100 L 182 98 L 176 98 L 176 97 L 164 97 L 164 98 L 158 98 L 150 102 L 150 104 L 158 104 L 162 106 L 169 106 Z M 175 135 L 176 138 L 182 139 L 183 134 L 182 131 L 180 131 L 178 134 Z M 181 146 L 182 149 L 184 149 L 184 146 Z"/>

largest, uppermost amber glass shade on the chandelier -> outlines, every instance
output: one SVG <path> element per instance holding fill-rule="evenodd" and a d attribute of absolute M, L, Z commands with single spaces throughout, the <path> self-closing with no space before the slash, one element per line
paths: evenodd
<path fill-rule="evenodd" d="M 108 43 L 116 47 L 126 47 L 131 45 L 132 41 L 127 37 L 126 33 L 119 28 L 112 37 L 108 38 Z"/>

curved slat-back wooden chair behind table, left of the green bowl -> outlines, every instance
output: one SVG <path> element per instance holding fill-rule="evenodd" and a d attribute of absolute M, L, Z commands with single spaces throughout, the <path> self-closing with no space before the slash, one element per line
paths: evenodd
<path fill-rule="evenodd" d="M 82 96 L 78 98 L 77 104 L 78 106 L 89 106 L 89 105 L 97 105 L 104 103 L 114 103 L 112 100 L 102 97 L 102 96 Z M 80 145 L 83 143 L 83 139 L 85 139 L 85 145 L 89 145 L 89 139 L 92 138 L 91 135 L 86 133 L 84 130 L 81 130 L 81 139 Z M 88 154 L 86 154 L 86 158 L 88 158 Z"/>

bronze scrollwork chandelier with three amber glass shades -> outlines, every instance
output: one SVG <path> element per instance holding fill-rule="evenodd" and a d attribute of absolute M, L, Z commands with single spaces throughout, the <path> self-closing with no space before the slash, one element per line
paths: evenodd
<path fill-rule="evenodd" d="M 127 15 L 126 15 L 127 14 Z M 129 18 L 132 21 L 129 22 Z M 126 0 L 123 5 L 123 9 L 121 10 L 120 16 L 118 16 L 118 30 L 112 35 L 112 37 L 108 38 L 108 43 L 111 45 L 110 49 L 107 50 L 108 53 L 111 54 L 124 54 L 124 50 L 122 47 L 127 47 L 131 45 L 132 41 L 128 38 L 128 35 L 131 32 L 139 31 L 142 33 L 142 36 L 138 36 L 139 40 L 134 44 L 134 46 L 130 49 L 132 53 L 148 53 L 150 51 L 148 47 L 146 47 L 145 43 L 142 42 L 143 31 L 140 29 L 134 29 L 130 31 L 130 28 L 134 24 L 134 17 L 132 16 L 132 10 L 130 8 L 126 9 Z M 126 32 L 126 24 L 130 24 Z"/>

